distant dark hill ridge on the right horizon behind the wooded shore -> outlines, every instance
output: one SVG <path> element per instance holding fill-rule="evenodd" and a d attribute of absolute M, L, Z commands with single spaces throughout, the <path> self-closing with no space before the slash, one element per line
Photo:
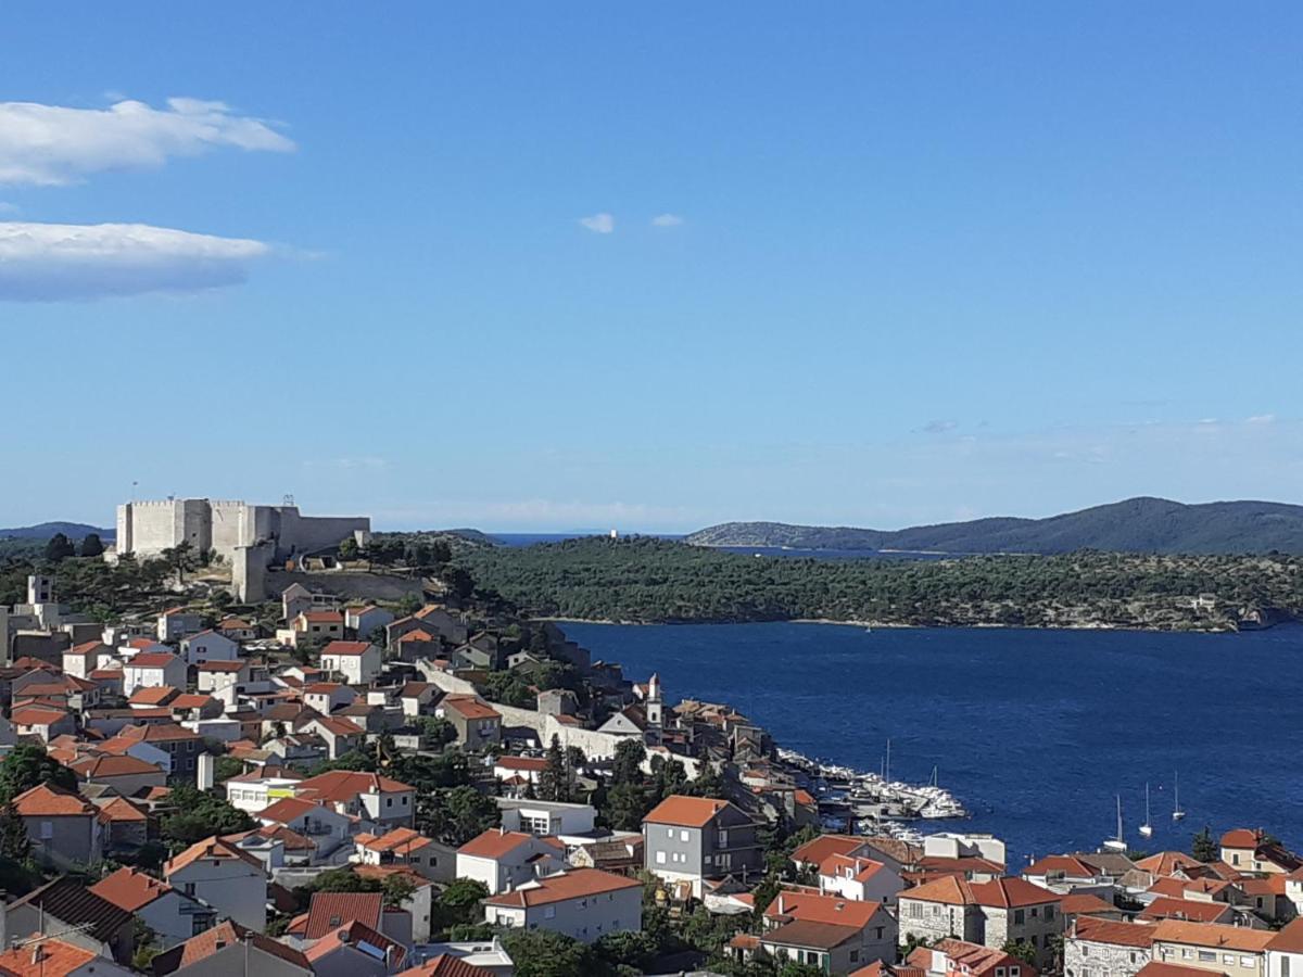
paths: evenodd
<path fill-rule="evenodd" d="M 1303 505 L 1214 502 L 1184 505 L 1139 498 L 1049 518 L 994 517 L 877 530 L 724 522 L 688 535 L 698 546 L 795 550 L 903 550 L 946 554 L 1054 554 L 1074 550 L 1156 554 L 1303 554 Z"/>

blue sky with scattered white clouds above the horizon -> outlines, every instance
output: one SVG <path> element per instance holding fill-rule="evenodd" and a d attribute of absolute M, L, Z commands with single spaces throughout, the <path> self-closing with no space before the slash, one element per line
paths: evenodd
<path fill-rule="evenodd" d="M 0 525 L 1300 500 L 1296 5 L 46 7 Z"/>

